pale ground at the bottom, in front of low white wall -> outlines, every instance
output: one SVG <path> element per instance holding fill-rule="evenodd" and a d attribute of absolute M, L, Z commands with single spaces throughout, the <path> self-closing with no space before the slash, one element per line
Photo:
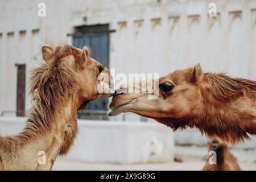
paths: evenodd
<path fill-rule="evenodd" d="M 232 153 L 238 158 L 238 163 L 243 170 L 256 171 L 256 150 L 235 150 Z M 57 159 L 53 170 L 201 170 L 207 158 L 206 147 L 176 146 L 175 154 L 183 159 L 182 163 L 152 163 L 152 164 L 109 164 L 88 163 L 80 161 Z"/>

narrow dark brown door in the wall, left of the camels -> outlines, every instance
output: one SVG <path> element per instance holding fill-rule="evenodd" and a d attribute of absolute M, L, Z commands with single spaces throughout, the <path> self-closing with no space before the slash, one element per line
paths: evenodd
<path fill-rule="evenodd" d="M 17 66 L 17 91 L 16 91 L 16 115 L 25 114 L 25 94 L 26 94 L 26 64 Z"/>

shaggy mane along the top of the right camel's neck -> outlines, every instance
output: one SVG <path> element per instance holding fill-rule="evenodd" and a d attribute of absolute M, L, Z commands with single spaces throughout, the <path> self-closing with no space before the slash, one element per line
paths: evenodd
<path fill-rule="evenodd" d="M 256 96 L 256 81 L 229 77 L 225 73 L 205 73 L 204 79 L 209 83 L 208 89 L 214 98 L 220 101 L 241 96 L 243 92 Z"/>

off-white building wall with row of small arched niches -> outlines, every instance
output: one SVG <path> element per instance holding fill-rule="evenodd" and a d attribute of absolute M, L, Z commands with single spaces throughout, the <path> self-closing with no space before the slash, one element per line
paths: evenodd
<path fill-rule="evenodd" d="M 46 4 L 46 17 L 38 4 Z M 217 17 L 208 16 L 215 2 Z M 115 73 L 166 75 L 200 62 L 204 71 L 256 80 L 254 0 L 0 1 L 0 113 L 16 109 L 15 63 L 42 63 L 40 48 L 72 43 L 73 28 L 109 23 Z M 28 80 L 28 76 L 27 76 Z M 27 84 L 28 86 L 28 84 Z M 26 109 L 31 106 L 26 96 Z"/>

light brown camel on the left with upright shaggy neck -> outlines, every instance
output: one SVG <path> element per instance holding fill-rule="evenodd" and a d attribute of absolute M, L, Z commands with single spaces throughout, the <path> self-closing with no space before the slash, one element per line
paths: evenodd
<path fill-rule="evenodd" d="M 70 150 L 77 135 L 77 110 L 88 101 L 111 94 L 97 92 L 106 67 L 89 55 L 89 49 L 64 45 L 42 47 L 46 63 L 31 71 L 32 108 L 26 126 L 17 135 L 0 137 L 0 169 L 49 170 L 56 157 Z M 38 163 L 44 154 L 46 163 Z"/>

